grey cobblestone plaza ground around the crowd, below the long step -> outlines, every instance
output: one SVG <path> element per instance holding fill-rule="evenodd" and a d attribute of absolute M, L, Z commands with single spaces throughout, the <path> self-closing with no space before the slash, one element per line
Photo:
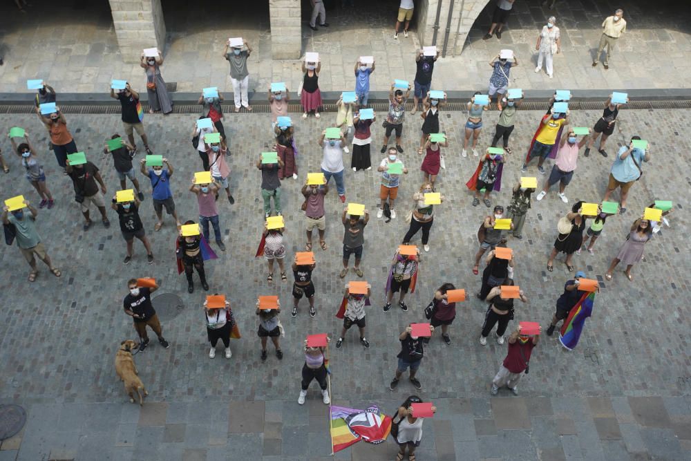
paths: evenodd
<path fill-rule="evenodd" d="M 492 197 L 493 203 L 508 204 L 509 190 L 521 176 L 524 149 L 541 114 L 518 114 L 510 143 L 514 153 L 507 160 L 502 191 Z M 576 111 L 572 117 L 576 126 L 592 126 L 599 115 L 599 111 Z M 489 144 L 496 117 L 495 112 L 484 117 L 481 148 Z M 196 218 L 196 203 L 187 191 L 189 178 L 201 168 L 187 135 L 195 118 L 147 115 L 144 120 L 154 151 L 169 158 L 176 169 L 172 187 L 182 219 Z M 464 114 L 446 112 L 440 118 L 451 143 L 445 149 L 446 170 L 438 180 L 446 202 L 436 210 L 431 250 L 422 255 L 419 288 L 408 299 L 408 312 L 396 308 L 388 314 L 381 311 L 386 267 L 408 227 L 401 216 L 409 206 L 408 197 L 422 181 L 421 158 L 416 153 L 421 120 L 408 115 L 401 157 L 410 173 L 401 181 L 399 218 L 384 223 L 373 216 L 365 229 L 364 279 L 373 286 L 367 316 L 372 347 L 361 348 L 356 334 L 350 332 L 343 348 L 332 350 L 332 395 L 337 404 L 357 408 L 376 403 L 392 411 L 414 391 L 407 382 L 401 382 L 395 392 L 388 390 L 399 351 L 397 335 L 409 322 L 424 319 L 422 308 L 442 283 L 451 281 L 468 293 L 480 286 L 480 277 L 473 276 L 471 266 L 477 250 L 477 226 L 488 210 L 483 205 L 472 207 L 471 194 L 464 186 L 477 163 L 472 156 L 460 156 Z M 643 166 L 645 175 L 631 191 L 629 211 L 607 220 L 594 255 L 584 252 L 574 256 L 576 270 L 597 277 L 603 288 L 578 348 L 567 352 L 555 337 L 543 338 L 533 355 L 530 374 L 520 386 L 520 397 L 502 392 L 500 398 L 490 399 L 490 379 L 506 346 L 495 341 L 480 346 L 477 337 L 484 303 L 476 299 L 462 303 L 450 330 L 452 345 L 444 346 L 435 337 L 419 372 L 424 386 L 420 395 L 435 402 L 440 411 L 435 420 L 425 424 L 418 459 L 678 460 L 691 456 L 686 335 L 691 297 L 688 281 L 681 277 L 689 267 L 684 255 L 691 250 L 681 239 L 689 229 L 683 210 L 689 206 L 691 184 L 684 173 L 690 162 L 683 155 L 691 146 L 681 127 L 691 123 L 691 111 L 627 110 L 620 119 L 621 131 L 608 141 L 609 157 L 594 153 L 580 158 L 567 188 L 569 203 L 579 198 L 600 201 L 615 144 L 634 134 L 650 140 L 652 160 Z M 243 113 L 225 119 L 231 138 L 231 188 L 236 204 L 219 201 L 227 251 L 206 267 L 212 292 L 228 295 L 243 334 L 243 339 L 231 344 L 230 360 L 222 354 L 214 360 L 207 357 L 201 308 L 205 292 L 187 294 L 184 276 L 178 276 L 175 269 L 171 221 L 167 220 L 160 232 L 153 231 L 150 194 L 146 193 L 142 205 L 142 220 L 151 238 L 155 263 L 147 265 L 143 248 L 135 243 L 133 261 L 125 267 L 124 241 L 111 210 L 111 229 L 97 223 L 82 232 L 72 185 L 57 171 L 36 118 L 1 115 L 0 120 L 3 132 L 10 126 L 26 127 L 44 157 L 48 186 L 57 205 L 40 210 L 37 225 L 48 253 L 63 272 L 61 279 L 56 279 L 39 266 L 37 281 L 28 283 L 28 267 L 20 252 L 16 247 L 1 246 L 5 272 L 0 278 L 0 403 L 25 406 L 28 424 L 19 437 L 3 442 L 0 460 L 44 460 L 49 455 L 50 459 L 65 460 L 75 458 L 75 454 L 76 459 L 84 460 L 258 459 L 261 455 L 267 460 L 328 458 L 325 406 L 316 399 L 314 388 L 304 407 L 295 399 L 303 338 L 316 332 L 328 332 L 333 337 L 341 328 L 334 313 L 344 283 L 338 277 L 343 232 L 338 216 L 342 205 L 330 192 L 329 248 L 314 250 L 319 313 L 310 318 L 303 301 L 299 316 L 292 319 L 287 314 L 292 277 L 288 283 L 276 277 L 274 286 L 267 286 L 265 262 L 253 257 L 263 222 L 260 174 L 254 158 L 269 146 L 269 116 Z M 334 113 L 325 113 L 321 120 L 296 120 L 301 175 L 298 181 L 283 182 L 288 260 L 304 248 L 299 187 L 308 171 L 319 169 L 321 149 L 316 145 L 316 134 L 333 120 Z M 68 122 L 79 149 L 102 169 L 110 196 L 118 186 L 117 177 L 112 160 L 100 150 L 107 137 L 122 132 L 119 117 L 68 115 Z M 373 126 L 372 160 L 376 162 L 383 157 L 379 154 L 383 130 L 379 124 Z M 23 178 L 17 158 L 10 157 L 8 142 L 3 141 L 0 147 L 11 167 L 9 174 L 0 175 L 2 198 L 21 193 L 37 203 L 37 194 Z M 544 180 L 534 164 L 529 175 Z M 348 201 L 365 203 L 375 211 L 378 182 L 374 171 L 353 173 L 346 169 Z M 144 191 L 150 190 L 150 185 L 144 185 Z M 654 199 L 674 201 L 672 227 L 665 228 L 663 235 L 647 246 L 645 261 L 634 267 L 633 283 L 621 270 L 611 282 L 604 281 L 603 274 L 623 243 L 627 227 Z M 515 280 L 529 299 L 518 305 L 518 319 L 540 321 L 546 326 L 562 285 L 569 279 L 560 259 L 554 272 L 545 270 L 556 237 L 556 221 L 568 207 L 552 191 L 540 203 L 533 203 L 524 239 L 509 239 L 516 254 Z M 419 234 L 413 243 L 420 245 Z M 133 276 L 155 276 L 160 281 L 160 293 L 178 294 L 184 301 L 184 309 L 176 317 L 176 312 L 160 311 L 171 348 L 164 350 L 152 344 L 135 357 L 149 390 L 141 411 L 127 402 L 113 369 L 120 341 L 135 335 L 121 307 L 125 283 Z M 345 281 L 352 277 L 351 270 Z M 282 362 L 269 355 L 263 364 L 259 358 L 254 300 L 260 294 L 278 294 L 283 301 Z M 514 327 L 515 323 L 509 326 Z M 392 459 L 394 453 L 390 442 L 376 447 L 361 444 L 338 453 L 337 459 Z"/>

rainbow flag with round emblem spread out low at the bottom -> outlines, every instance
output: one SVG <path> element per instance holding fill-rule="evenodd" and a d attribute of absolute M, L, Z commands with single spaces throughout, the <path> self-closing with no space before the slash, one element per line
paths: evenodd
<path fill-rule="evenodd" d="M 379 407 L 375 405 L 366 410 L 332 405 L 330 411 L 331 442 L 334 453 L 360 440 L 370 444 L 380 444 L 391 432 L 391 417 L 381 413 Z"/>

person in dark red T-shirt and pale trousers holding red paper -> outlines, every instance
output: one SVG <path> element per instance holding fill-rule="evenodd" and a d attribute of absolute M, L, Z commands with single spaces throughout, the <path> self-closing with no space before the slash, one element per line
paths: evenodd
<path fill-rule="evenodd" d="M 518 383 L 524 373 L 528 373 L 530 356 L 533 348 L 540 341 L 539 335 L 526 335 L 521 332 L 520 324 L 509 336 L 507 357 L 499 367 L 497 375 L 492 379 L 492 395 L 497 395 L 499 389 L 507 386 L 513 395 L 518 395 Z M 542 331 L 542 327 L 538 329 Z"/>

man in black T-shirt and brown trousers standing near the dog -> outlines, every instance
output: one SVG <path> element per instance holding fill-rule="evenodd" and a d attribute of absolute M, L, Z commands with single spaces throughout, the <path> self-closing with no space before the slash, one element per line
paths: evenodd
<path fill-rule="evenodd" d="M 149 346 L 149 335 L 146 333 L 147 326 L 158 337 L 158 343 L 164 349 L 169 348 L 171 345 L 163 337 L 158 314 L 151 304 L 151 293 L 158 290 L 158 284 L 153 283 L 152 287 L 140 287 L 137 279 L 129 279 L 127 288 L 129 293 L 122 300 L 122 308 L 125 314 L 132 317 L 134 322 L 134 329 L 140 338 L 139 351 L 144 352 L 146 346 Z"/>

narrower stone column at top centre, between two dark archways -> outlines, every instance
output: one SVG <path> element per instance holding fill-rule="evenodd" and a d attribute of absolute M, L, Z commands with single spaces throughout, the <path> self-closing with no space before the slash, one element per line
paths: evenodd
<path fill-rule="evenodd" d="M 299 59 L 302 48 L 300 0 L 269 0 L 273 59 Z"/>

